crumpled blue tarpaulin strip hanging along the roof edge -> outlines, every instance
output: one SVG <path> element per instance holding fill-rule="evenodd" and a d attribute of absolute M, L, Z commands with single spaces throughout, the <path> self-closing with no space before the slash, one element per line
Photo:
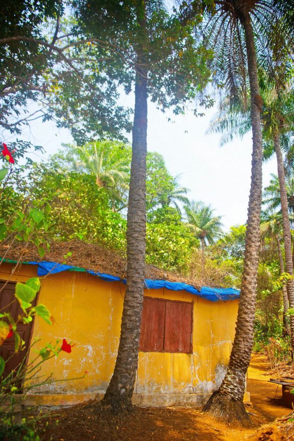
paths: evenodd
<path fill-rule="evenodd" d="M 5 261 L 6 259 L 4 259 Z M 7 259 L 9 261 L 9 259 Z M 114 281 L 123 281 L 126 283 L 125 279 L 121 279 L 117 276 L 111 276 L 110 274 L 99 273 L 98 271 L 85 270 L 84 268 L 79 268 L 73 265 L 66 265 L 63 263 L 55 263 L 55 262 L 23 262 L 29 265 L 38 265 L 38 276 L 46 276 L 47 274 L 56 274 L 61 273 L 62 271 L 78 271 L 78 272 L 86 272 L 88 274 L 92 274 L 93 276 L 98 277 L 99 279 L 106 280 L 109 282 Z M 166 288 L 172 291 L 187 291 L 190 294 L 195 294 L 196 296 L 202 297 L 206 300 L 210 300 L 211 302 L 217 302 L 219 300 L 235 300 L 239 299 L 240 291 L 234 288 L 210 288 L 208 286 L 202 286 L 200 291 L 197 290 L 194 286 L 188 285 L 187 283 L 181 282 L 170 282 L 168 280 L 153 280 L 153 279 L 145 279 L 145 287 L 147 289 L 160 289 Z"/>

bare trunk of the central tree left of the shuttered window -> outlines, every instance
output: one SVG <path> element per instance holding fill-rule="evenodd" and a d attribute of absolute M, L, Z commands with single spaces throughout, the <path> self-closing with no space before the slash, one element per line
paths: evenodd
<path fill-rule="evenodd" d="M 140 3 L 140 2 L 139 2 Z M 145 2 L 141 27 L 145 28 Z M 142 11 L 141 11 L 142 12 Z M 138 13 L 139 16 L 139 13 Z M 138 54 L 138 66 L 142 66 Z M 135 83 L 132 162 L 127 211 L 127 285 L 118 355 L 112 378 L 102 402 L 113 411 L 130 409 L 138 367 L 146 250 L 146 156 L 147 156 L 147 71 L 139 69 Z"/>

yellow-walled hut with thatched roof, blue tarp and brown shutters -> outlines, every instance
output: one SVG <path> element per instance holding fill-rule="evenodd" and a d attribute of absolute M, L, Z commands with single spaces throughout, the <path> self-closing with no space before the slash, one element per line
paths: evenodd
<path fill-rule="evenodd" d="M 72 255 L 64 263 L 64 255 Z M 54 243 L 43 259 L 22 245 L 5 249 L 0 265 L 1 307 L 11 301 L 17 281 L 40 277 L 37 303 L 54 317 L 47 325 L 38 317 L 23 338 L 26 347 L 66 338 L 75 346 L 44 364 L 43 373 L 56 382 L 28 395 L 30 404 L 69 405 L 103 395 L 111 378 L 120 338 L 125 261 L 82 242 Z M 17 264 L 17 262 L 22 262 Z M 239 292 L 201 287 L 189 279 L 146 267 L 139 365 L 134 403 L 202 405 L 221 383 L 229 360 Z M 6 352 L 5 352 L 6 350 Z M 1 354 L 9 348 L 1 347 Z M 29 349 L 27 349 L 29 351 Z M 34 356 L 26 353 L 28 359 Z M 25 355 L 25 352 L 23 353 Z"/>

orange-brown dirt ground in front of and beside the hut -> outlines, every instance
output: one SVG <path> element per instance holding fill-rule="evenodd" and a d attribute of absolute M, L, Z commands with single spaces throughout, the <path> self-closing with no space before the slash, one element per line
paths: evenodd
<path fill-rule="evenodd" d="M 103 412 L 97 412 L 93 402 L 88 402 L 63 410 L 61 415 L 51 419 L 45 433 L 40 427 L 39 434 L 42 441 L 292 440 L 292 436 L 254 435 L 257 427 L 291 412 L 282 405 L 281 387 L 277 390 L 277 385 L 268 382 L 267 368 L 264 355 L 252 354 L 247 380 L 252 404 L 247 406 L 247 411 L 254 414 L 255 428 L 228 426 L 207 417 L 201 409 L 191 408 L 138 408 L 127 418 L 105 418 Z"/>

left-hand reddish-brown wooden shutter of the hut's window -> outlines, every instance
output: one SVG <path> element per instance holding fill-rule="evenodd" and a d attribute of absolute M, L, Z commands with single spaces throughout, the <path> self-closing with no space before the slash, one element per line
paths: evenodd
<path fill-rule="evenodd" d="M 166 302 L 144 298 L 139 350 L 163 350 Z"/>

